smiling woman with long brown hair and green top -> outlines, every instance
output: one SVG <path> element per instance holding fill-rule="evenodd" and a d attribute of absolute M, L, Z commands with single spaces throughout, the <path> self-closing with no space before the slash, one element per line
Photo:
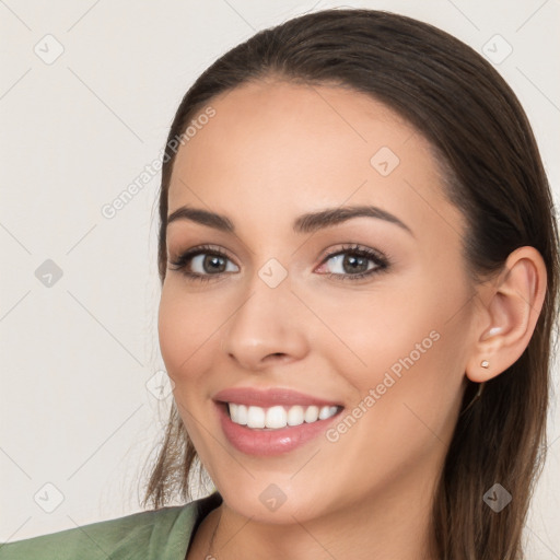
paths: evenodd
<path fill-rule="evenodd" d="M 558 235 L 481 56 L 370 10 L 258 33 L 180 103 L 160 218 L 154 511 L 0 558 L 523 557 Z"/>

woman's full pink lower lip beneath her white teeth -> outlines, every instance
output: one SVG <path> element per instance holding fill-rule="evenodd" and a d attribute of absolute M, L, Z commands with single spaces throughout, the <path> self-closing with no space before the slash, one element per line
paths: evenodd
<path fill-rule="evenodd" d="M 222 430 L 230 443 L 242 453 L 260 456 L 280 455 L 307 443 L 325 433 L 328 424 L 341 412 L 339 410 L 335 416 L 316 422 L 278 430 L 256 430 L 233 422 L 226 410 L 228 405 L 220 402 L 217 407 Z"/>

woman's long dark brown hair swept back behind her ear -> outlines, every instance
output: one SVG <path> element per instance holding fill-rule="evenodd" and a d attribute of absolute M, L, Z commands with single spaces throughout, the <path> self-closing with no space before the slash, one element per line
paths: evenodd
<path fill-rule="evenodd" d="M 324 10 L 261 31 L 212 63 L 185 94 L 165 148 L 159 271 L 166 269 L 167 190 L 176 141 L 218 94 L 279 77 L 370 94 L 431 143 L 445 191 L 464 213 L 464 255 L 475 281 L 500 271 L 517 247 L 537 248 L 548 289 L 522 357 L 486 384 L 459 416 L 433 504 L 434 556 L 518 560 L 522 533 L 546 452 L 559 252 L 552 198 L 537 143 L 515 94 L 474 49 L 410 18 L 363 9 Z M 170 147 L 172 145 L 172 148 Z M 470 384 L 464 407 L 472 397 Z M 175 402 L 143 505 L 191 495 L 198 463 Z M 500 513 L 482 500 L 495 482 L 513 497 Z"/>

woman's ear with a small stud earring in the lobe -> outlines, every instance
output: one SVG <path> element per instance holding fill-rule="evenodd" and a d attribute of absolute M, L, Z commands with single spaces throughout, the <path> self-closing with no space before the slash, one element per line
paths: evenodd
<path fill-rule="evenodd" d="M 497 282 L 480 291 L 480 327 L 466 365 L 467 377 L 483 383 L 515 363 L 527 348 L 540 315 L 547 269 L 535 247 L 510 254 Z"/>

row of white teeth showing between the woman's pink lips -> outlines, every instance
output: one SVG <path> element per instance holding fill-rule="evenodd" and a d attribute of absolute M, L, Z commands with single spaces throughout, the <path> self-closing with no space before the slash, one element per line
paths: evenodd
<path fill-rule="evenodd" d="M 337 413 L 338 407 L 324 406 L 320 409 L 314 405 L 302 407 L 295 405 L 290 408 L 273 406 L 261 408 L 256 406 L 236 405 L 229 402 L 230 418 L 233 422 L 247 428 L 278 430 L 287 425 L 301 425 L 303 422 L 316 422 L 326 420 Z"/>

